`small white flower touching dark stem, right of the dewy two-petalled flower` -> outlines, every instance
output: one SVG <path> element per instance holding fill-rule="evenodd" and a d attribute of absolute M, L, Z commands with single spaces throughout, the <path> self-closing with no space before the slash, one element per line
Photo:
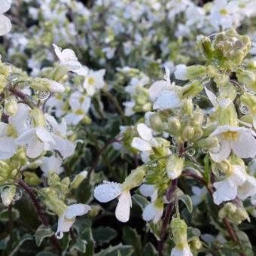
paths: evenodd
<path fill-rule="evenodd" d="M 144 221 L 157 223 L 163 215 L 163 205 L 158 206 L 157 202 L 149 203 L 143 210 L 142 218 Z"/>

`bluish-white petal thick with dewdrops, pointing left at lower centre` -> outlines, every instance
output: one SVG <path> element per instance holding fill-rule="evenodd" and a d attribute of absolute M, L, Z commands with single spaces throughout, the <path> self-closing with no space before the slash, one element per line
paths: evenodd
<path fill-rule="evenodd" d="M 101 203 L 107 203 L 122 193 L 120 183 L 108 182 L 100 184 L 94 189 L 94 197 Z"/>

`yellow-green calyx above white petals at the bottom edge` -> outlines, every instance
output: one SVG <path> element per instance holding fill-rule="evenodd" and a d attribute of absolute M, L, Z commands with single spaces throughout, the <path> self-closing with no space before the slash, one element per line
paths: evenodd
<path fill-rule="evenodd" d="M 180 218 L 173 218 L 171 221 L 171 229 L 175 247 L 182 249 L 187 245 L 187 224 Z"/>

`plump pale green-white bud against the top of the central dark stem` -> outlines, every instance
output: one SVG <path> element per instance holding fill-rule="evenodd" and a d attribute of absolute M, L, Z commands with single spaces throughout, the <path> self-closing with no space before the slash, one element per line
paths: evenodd
<path fill-rule="evenodd" d="M 166 161 L 166 172 L 170 179 L 178 178 L 181 175 L 184 166 L 184 159 L 172 154 Z"/>

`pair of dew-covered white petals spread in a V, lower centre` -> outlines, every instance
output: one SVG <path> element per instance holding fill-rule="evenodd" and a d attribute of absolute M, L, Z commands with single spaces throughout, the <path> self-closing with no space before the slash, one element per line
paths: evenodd
<path fill-rule="evenodd" d="M 95 188 L 94 197 L 101 203 L 107 203 L 118 197 L 115 216 L 118 221 L 129 221 L 132 198 L 130 191 L 123 190 L 120 183 L 103 181 L 103 184 L 100 184 Z"/>

